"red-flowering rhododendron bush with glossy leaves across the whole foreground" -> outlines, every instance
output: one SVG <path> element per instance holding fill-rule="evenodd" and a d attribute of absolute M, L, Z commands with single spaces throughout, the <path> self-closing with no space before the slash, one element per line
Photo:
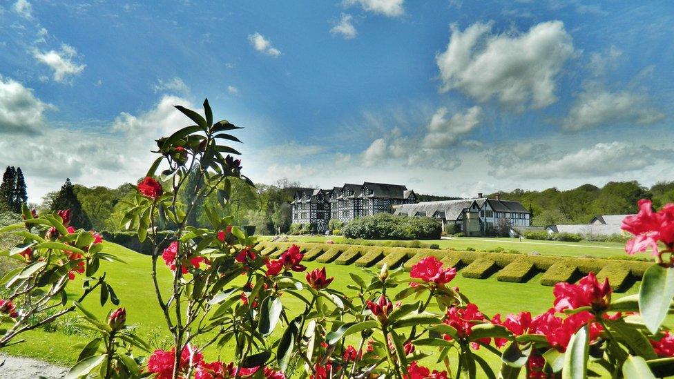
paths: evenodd
<path fill-rule="evenodd" d="M 639 294 L 616 298 L 608 280 L 589 273 L 559 283 L 555 300 L 541 314 L 486 314 L 452 285 L 456 269 L 426 257 L 410 273 L 402 269 L 349 274 L 347 291 L 336 291 L 329 267 L 309 270 L 300 246 L 262 255 L 254 237 L 224 214 L 231 180 L 242 175 L 238 152 L 222 142 L 238 127 L 213 122 L 176 107 L 194 123 L 157 140 L 157 159 L 137 185 L 126 229 L 149 240 L 148 272 L 160 320 L 171 346 L 152 347 L 126 326 L 126 311 L 110 309 L 99 319 L 79 302 L 68 305 L 65 286 L 86 277 L 84 295 L 96 287 L 102 300 L 116 296 L 95 276 L 97 262 L 113 259 L 89 231 L 68 229 L 66 215 L 31 215 L 13 232 L 25 240 L 8 255 L 25 265 L 10 275 L 15 295 L 0 300 L 6 333 L 26 328 L 33 304 L 71 311 L 79 307 L 95 338 L 83 347 L 69 376 L 102 378 L 648 378 L 674 374 L 674 335 L 664 327 L 674 297 L 674 206 L 653 211 L 639 203 L 624 229 L 634 238 L 628 253 L 652 251 L 654 264 Z M 187 175 L 198 173 L 194 187 Z M 192 203 L 177 193 L 187 191 Z M 208 228 L 186 224 L 198 199 L 215 193 L 220 204 L 204 206 Z M 167 225 L 173 234 L 158 233 Z M 160 246 L 163 246 L 160 247 Z M 160 271 L 171 273 L 162 286 Z M 47 275 L 47 273 L 50 273 Z M 478 281 L 475 281 L 479 285 Z M 41 290 L 37 295 L 36 288 Z M 125 289 L 134 291 L 135 289 Z M 118 289 L 119 291 L 119 289 Z M 53 295 L 50 295 L 53 293 Z M 83 296 L 84 296 L 83 295 Z M 498 297 L 499 293 L 494 293 Z M 149 299 L 148 299 L 149 300 Z M 290 301 L 292 300 L 292 301 Z M 508 299 L 503 298 L 503 304 Z M 104 303 L 104 301 L 102 301 Z M 302 304 L 289 307 L 290 304 Z M 30 304 L 30 305 L 27 305 Z M 116 304 L 116 303 L 115 303 Z M 40 311 L 41 309 L 38 309 Z M 4 325 L 3 324 L 3 325 Z M 23 326 L 22 326 L 23 325 Z M 32 324 L 30 324 L 32 325 Z M 3 340 L 0 340 L 0 347 Z M 494 360 L 499 367 L 490 366 Z M 217 359 L 209 359 L 217 356 Z"/>

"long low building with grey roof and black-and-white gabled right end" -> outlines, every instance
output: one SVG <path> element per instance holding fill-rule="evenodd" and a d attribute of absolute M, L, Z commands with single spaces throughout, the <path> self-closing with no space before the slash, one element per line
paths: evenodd
<path fill-rule="evenodd" d="M 395 207 L 394 214 L 409 217 L 434 217 L 442 223 L 443 231 L 464 235 L 488 235 L 500 223 L 509 226 L 530 226 L 531 213 L 519 202 L 482 197 L 474 199 L 421 202 Z"/>

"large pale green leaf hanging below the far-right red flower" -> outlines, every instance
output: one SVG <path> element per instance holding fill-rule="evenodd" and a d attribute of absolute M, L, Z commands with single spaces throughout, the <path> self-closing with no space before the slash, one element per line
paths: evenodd
<path fill-rule="evenodd" d="M 657 333 L 674 297 L 674 268 L 648 267 L 639 288 L 639 312 L 651 333 Z"/>

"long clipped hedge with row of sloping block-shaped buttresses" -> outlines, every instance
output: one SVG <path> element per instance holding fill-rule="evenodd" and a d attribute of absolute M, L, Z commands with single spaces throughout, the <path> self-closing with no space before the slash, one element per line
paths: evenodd
<path fill-rule="evenodd" d="M 263 241 L 257 249 L 280 253 L 290 245 L 291 242 Z M 592 271 L 600 280 L 608 278 L 617 292 L 629 289 L 635 280 L 642 278 L 644 271 L 653 264 L 637 260 L 524 255 L 505 251 L 489 253 L 316 242 L 298 243 L 298 245 L 307 251 L 305 260 L 317 260 L 321 263 L 354 264 L 359 267 L 381 267 L 387 264 L 392 268 L 402 265 L 405 270 L 409 271 L 423 258 L 434 256 L 445 266 L 456 267 L 465 278 L 485 279 L 496 274 L 497 280 L 501 282 L 528 282 L 537 273 L 543 273 L 540 284 L 546 286 L 552 286 L 558 282 L 575 282 Z"/>

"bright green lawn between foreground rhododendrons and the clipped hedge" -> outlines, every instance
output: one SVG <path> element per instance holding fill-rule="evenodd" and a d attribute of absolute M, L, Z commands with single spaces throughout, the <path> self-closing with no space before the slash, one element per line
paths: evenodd
<path fill-rule="evenodd" d="M 316 237 L 308 237 L 307 240 L 316 240 Z M 102 270 L 106 271 L 110 284 L 113 285 L 122 301 L 121 305 L 127 309 L 128 324 L 137 325 L 138 333 L 141 336 L 156 347 L 162 347 L 162 342 L 165 343 L 167 334 L 162 322 L 163 316 L 156 305 L 155 294 L 151 285 L 149 257 L 125 249 L 122 246 L 108 243 L 106 243 L 106 251 L 117 255 L 126 262 L 126 264 L 106 263 L 102 266 Z M 307 262 L 307 266 L 309 269 L 314 269 L 323 265 L 316 262 Z M 325 264 L 325 266 L 328 275 L 336 278 L 332 286 L 347 293 L 350 290 L 346 289 L 346 285 L 351 282 L 348 273 L 358 273 L 361 270 L 356 266 L 339 266 L 336 264 Z M 162 264 L 159 271 L 160 282 L 168 284 L 171 280 L 168 269 Z M 472 302 L 478 304 L 483 312 L 491 316 L 499 312 L 513 313 L 526 310 L 532 313 L 541 313 L 546 311 L 552 306 L 552 288 L 541 286 L 538 282 L 539 276 L 532 278 L 528 283 L 519 284 L 498 282 L 494 277 L 476 280 L 457 275 L 452 284 L 459 286 L 461 292 L 468 295 Z M 79 285 L 77 282 L 73 284 Z M 168 285 L 166 285 L 166 288 L 168 288 Z M 637 288 L 638 286 L 633 286 L 628 293 L 634 293 Z M 620 296 L 622 294 L 617 295 L 617 297 Z M 99 315 L 104 315 L 114 307 L 108 302 L 106 307 L 102 308 L 97 300 L 97 296 L 90 298 L 85 302 L 85 306 Z M 302 304 L 296 298 L 285 296 L 282 301 L 286 307 L 291 309 L 292 313 L 302 311 Z M 72 365 L 79 353 L 79 349 L 73 345 L 86 340 L 86 337 L 82 336 L 81 332 L 64 333 L 64 329 L 68 329 L 64 324 L 66 323 L 61 322 L 59 331 L 55 332 L 40 329 L 27 333 L 24 335 L 26 342 L 9 347 L 6 352 L 14 355 L 31 356 L 60 365 Z M 280 329 L 277 328 L 276 330 L 279 335 L 282 332 Z M 481 349 L 480 353 L 488 359 L 494 369 L 499 367 L 499 358 L 488 353 L 485 349 Z M 206 351 L 206 358 L 212 359 L 218 354 L 219 352 L 215 350 Z M 227 358 L 227 349 L 224 349 L 222 359 Z M 427 358 L 425 364 L 433 366 L 434 362 Z"/>

